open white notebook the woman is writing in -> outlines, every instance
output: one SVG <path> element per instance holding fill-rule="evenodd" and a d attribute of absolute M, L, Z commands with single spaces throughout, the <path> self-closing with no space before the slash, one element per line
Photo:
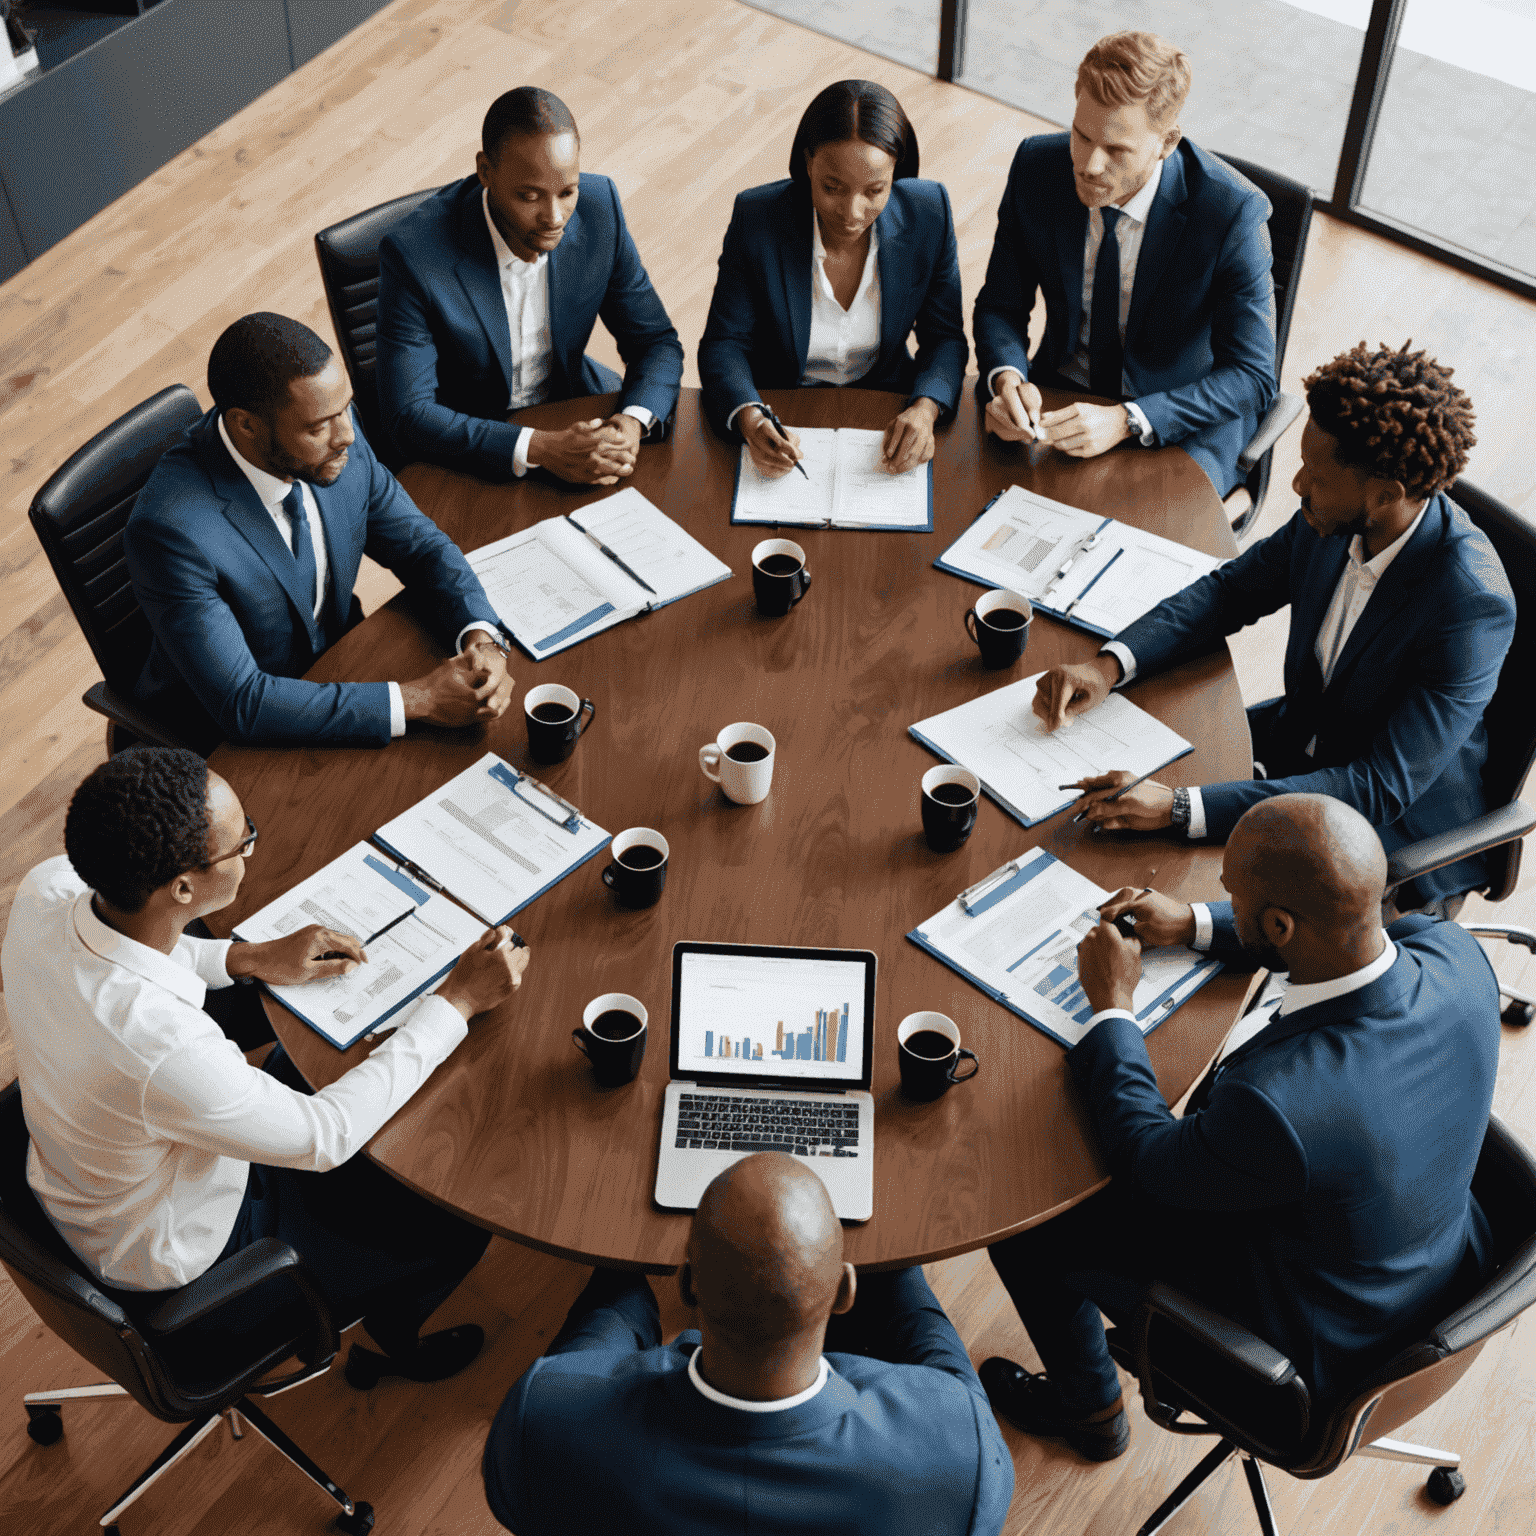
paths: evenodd
<path fill-rule="evenodd" d="M 757 473 L 742 445 L 731 522 L 806 528 L 909 528 L 932 533 L 934 465 L 892 475 L 882 459 L 883 432 L 862 427 L 796 427 L 805 467 L 777 479 Z"/>

